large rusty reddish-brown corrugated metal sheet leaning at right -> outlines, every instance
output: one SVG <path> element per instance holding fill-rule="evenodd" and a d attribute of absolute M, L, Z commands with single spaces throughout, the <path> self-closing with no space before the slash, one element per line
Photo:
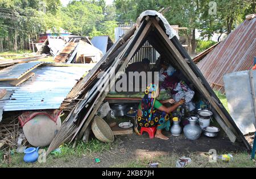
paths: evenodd
<path fill-rule="evenodd" d="M 255 47 L 256 18 L 245 20 L 197 66 L 213 89 L 224 92 L 224 74 L 251 69 Z"/>

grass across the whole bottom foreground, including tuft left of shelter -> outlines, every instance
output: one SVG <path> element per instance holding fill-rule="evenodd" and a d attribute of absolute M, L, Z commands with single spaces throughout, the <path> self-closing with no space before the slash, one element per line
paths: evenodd
<path fill-rule="evenodd" d="M 98 164 L 94 162 L 94 158 L 99 157 L 100 160 L 106 160 L 104 156 L 108 156 L 108 151 L 113 151 L 114 148 L 118 147 L 118 142 L 114 143 L 102 143 L 98 140 L 91 140 L 88 144 L 80 143 L 76 148 L 72 148 L 69 145 L 64 145 L 61 147 L 61 153 L 56 155 L 49 155 L 47 157 L 46 163 L 33 163 L 27 164 L 23 161 L 23 154 L 15 153 L 11 156 L 11 160 L 3 161 L 0 160 L 0 167 L 79 167 L 82 164 L 88 164 L 88 166 L 97 167 Z M 168 155 L 158 155 L 153 157 L 144 157 L 138 158 L 136 156 L 131 159 L 114 159 L 115 153 L 113 155 L 110 153 L 112 157 L 110 162 L 108 163 L 109 167 L 112 168 L 143 168 L 147 167 L 148 163 L 159 163 L 159 167 L 169 168 L 175 167 L 176 161 L 179 160 L 179 157 L 183 156 L 177 154 L 176 152 L 170 152 Z M 225 153 L 225 151 L 224 151 Z M 3 155 L 0 152 L 0 156 Z M 190 163 L 188 168 L 255 168 L 256 164 L 254 160 L 250 160 L 250 155 L 248 153 L 232 153 L 234 160 L 226 163 L 224 161 L 217 161 L 216 163 L 209 162 L 209 154 L 203 152 L 193 152 L 190 155 L 184 155 L 190 157 L 192 159 L 192 163 Z M 1 156 L 2 159 L 3 156 Z M 108 156 L 109 157 L 109 156 Z M 122 162 L 118 162 L 123 160 Z M 78 161 L 78 162 L 77 162 Z"/>

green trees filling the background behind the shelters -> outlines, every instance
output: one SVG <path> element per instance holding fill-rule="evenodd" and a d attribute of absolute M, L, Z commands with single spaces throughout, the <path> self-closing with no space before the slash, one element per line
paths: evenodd
<path fill-rule="evenodd" d="M 203 38 L 214 32 L 233 30 L 245 15 L 255 13 L 255 0 L 216 0 L 217 15 L 209 15 L 210 0 L 71 0 L 66 7 L 60 0 L 1 0 L 0 41 L 9 50 L 24 49 L 28 40 L 38 40 L 46 30 L 56 34 L 63 28 L 74 35 L 109 35 L 114 39 L 118 23 L 135 22 L 144 10 L 170 7 L 164 14 L 170 24 L 188 27 L 180 31 L 195 46 L 193 31 L 198 29 Z M 46 13 L 44 12 L 46 10 Z"/>

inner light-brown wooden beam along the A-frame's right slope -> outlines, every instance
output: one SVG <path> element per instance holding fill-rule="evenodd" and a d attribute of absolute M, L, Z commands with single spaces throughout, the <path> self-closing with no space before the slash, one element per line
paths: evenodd
<path fill-rule="evenodd" d="M 156 27 L 156 29 L 158 30 L 158 32 L 160 33 L 160 35 L 163 36 L 163 43 L 165 43 L 168 47 L 168 49 L 171 51 L 172 55 L 174 55 L 175 59 L 177 60 L 177 62 L 183 66 L 183 70 L 187 73 L 190 74 L 190 78 L 193 82 L 193 84 L 195 84 L 197 86 L 197 89 L 201 92 L 201 94 L 205 95 L 205 98 L 210 102 L 210 104 L 214 107 L 214 109 L 216 109 L 217 113 L 221 116 L 221 118 L 225 121 L 226 125 L 232 130 L 232 132 L 234 134 L 236 134 L 236 136 L 239 136 L 236 132 L 236 130 L 234 130 L 232 124 L 229 122 L 228 118 L 226 118 L 225 114 L 222 113 L 220 107 L 216 104 L 216 102 L 212 99 L 213 97 L 209 94 L 209 92 L 207 91 L 207 89 L 204 87 L 203 84 L 201 84 L 201 81 L 199 80 L 199 78 L 197 78 L 196 74 L 192 71 L 192 69 L 189 67 L 189 65 L 187 64 L 187 62 L 185 61 L 185 59 L 183 58 L 183 56 L 181 56 L 181 54 L 179 53 L 179 51 L 177 51 L 175 45 L 172 43 L 172 41 L 170 39 L 168 39 L 168 36 L 166 35 L 166 33 L 163 31 L 163 29 L 159 26 L 158 22 L 156 22 L 155 19 L 152 19 L 152 22 L 154 24 L 154 26 Z M 226 128 L 223 128 L 223 130 L 225 131 Z M 225 131 L 228 132 L 228 131 Z M 233 139 L 230 139 L 233 140 Z"/>

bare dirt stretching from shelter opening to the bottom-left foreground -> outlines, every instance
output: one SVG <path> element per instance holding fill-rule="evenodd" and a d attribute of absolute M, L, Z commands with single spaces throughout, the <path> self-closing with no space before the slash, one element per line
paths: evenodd
<path fill-rule="evenodd" d="M 232 143 L 226 136 L 207 138 L 202 135 L 198 140 L 185 139 L 184 135 L 172 136 L 170 132 L 165 135 L 169 140 L 150 139 L 147 134 L 118 136 L 115 139 L 116 147 L 96 153 L 91 156 L 84 155 L 77 159 L 53 164 L 53 167 L 112 167 L 127 163 L 130 160 L 153 159 L 159 156 L 167 156 L 171 153 L 176 155 L 189 155 L 192 152 L 209 152 L 216 149 L 217 153 L 246 152 L 242 143 Z M 96 164 L 94 158 L 98 157 L 101 162 Z M 61 159 L 60 159 L 61 160 Z"/>

